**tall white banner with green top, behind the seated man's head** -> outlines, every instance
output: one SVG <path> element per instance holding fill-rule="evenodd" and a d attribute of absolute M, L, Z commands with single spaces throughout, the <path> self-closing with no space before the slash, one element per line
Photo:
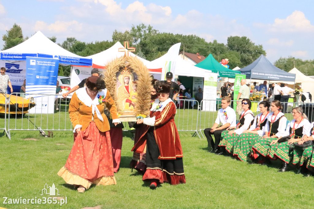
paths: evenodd
<path fill-rule="evenodd" d="M 203 101 L 202 106 L 203 111 L 216 110 L 217 78 L 218 78 L 217 73 L 205 72 L 203 99 L 211 99 L 211 101 Z"/>

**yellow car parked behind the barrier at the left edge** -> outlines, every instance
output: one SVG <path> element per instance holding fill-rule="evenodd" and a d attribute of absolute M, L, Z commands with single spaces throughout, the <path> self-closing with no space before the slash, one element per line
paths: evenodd
<path fill-rule="evenodd" d="M 7 99 L 5 99 L 5 96 Z M 10 113 L 10 114 L 22 114 L 28 113 L 28 110 L 32 107 L 35 107 L 35 100 L 33 97 L 30 99 L 25 99 L 23 97 L 11 95 L 9 102 L 9 94 L 0 94 L 0 113 Z M 7 103 L 7 104 L 5 104 Z M 9 104 L 10 103 L 10 104 Z M 5 112 L 5 105 L 7 105 L 7 111 Z M 9 112 L 10 105 L 10 112 Z"/>

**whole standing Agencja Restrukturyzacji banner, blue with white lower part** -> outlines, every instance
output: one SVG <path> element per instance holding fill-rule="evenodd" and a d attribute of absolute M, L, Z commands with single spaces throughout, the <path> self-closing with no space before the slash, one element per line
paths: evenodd
<path fill-rule="evenodd" d="M 36 103 L 30 113 L 54 113 L 55 96 L 36 94 L 56 94 L 58 68 L 58 59 L 26 57 L 26 96 Z"/>

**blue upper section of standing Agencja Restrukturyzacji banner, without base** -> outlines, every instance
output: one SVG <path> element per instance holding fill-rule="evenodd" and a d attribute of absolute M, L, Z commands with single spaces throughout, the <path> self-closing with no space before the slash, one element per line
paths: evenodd
<path fill-rule="evenodd" d="M 26 93 L 56 94 L 59 60 L 26 57 Z"/>

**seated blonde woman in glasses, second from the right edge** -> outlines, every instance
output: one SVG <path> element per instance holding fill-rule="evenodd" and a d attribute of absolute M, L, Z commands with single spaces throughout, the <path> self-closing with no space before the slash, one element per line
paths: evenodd
<path fill-rule="evenodd" d="M 271 147 L 268 156 L 272 159 L 279 158 L 282 160 L 282 167 L 279 172 L 284 172 L 287 170 L 287 166 L 293 157 L 293 152 L 291 152 L 293 148 L 292 144 L 301 141 L 303 136 L 310 134 L 311 123 L 307 120 L 307 117 L 303 113 L 302 108 L 293 108 L 292 116 L 293 120 L 288 124 L 284 134 L 285 136 L 290 135 L 291 139 L 286 142 L 278 143 L 278 140 L 281 138 L 279 137 L 270 143 Z M 302 157 L 302 153 L 298 153 L 299 154 L 296 155 L 293 159 L 294 164 L 298 164 L 300 158 Z"/>

